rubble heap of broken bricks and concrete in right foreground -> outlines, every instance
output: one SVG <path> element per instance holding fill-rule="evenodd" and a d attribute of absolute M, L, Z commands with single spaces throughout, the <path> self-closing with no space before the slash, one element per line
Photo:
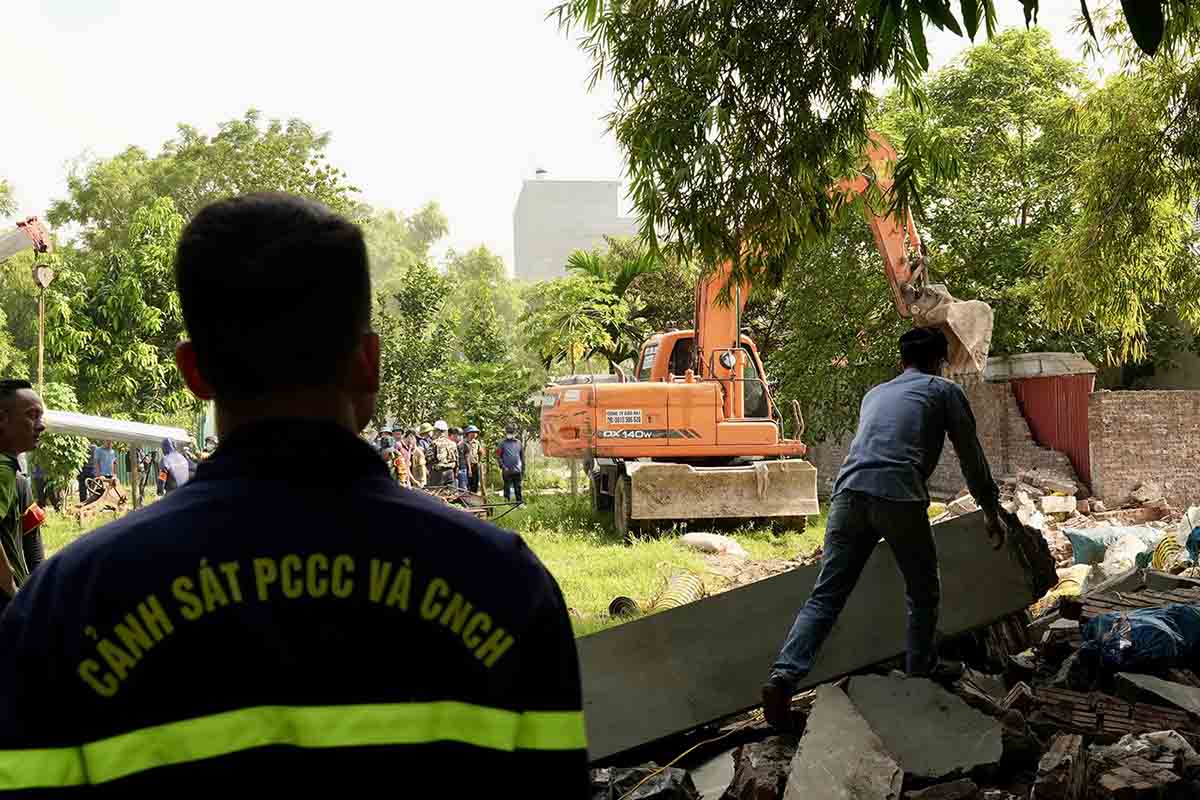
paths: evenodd
<path fill-rule="evenodd" d="M 942 651 L 966 662 L 953 682 L 888 662 L 797 697 L 791 734 L 761 716 L 704 732 L 733 777 L 698 796 L 1200 796 L 1200 578 L 1132 569 Z"/>

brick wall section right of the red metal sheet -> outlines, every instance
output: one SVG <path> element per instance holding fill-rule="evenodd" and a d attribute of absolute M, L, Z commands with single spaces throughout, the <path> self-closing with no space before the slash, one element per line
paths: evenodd
<path fill-rule="evenodd" d="M 1087 405 L 1092 489 L 1116 507 L 1157 483 L 1177 509 L 1200 503 L 1200 391 L 1099 391 Z"/>

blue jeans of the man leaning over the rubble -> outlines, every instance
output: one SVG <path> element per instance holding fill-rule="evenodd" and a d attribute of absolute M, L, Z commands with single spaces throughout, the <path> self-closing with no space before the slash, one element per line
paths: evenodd
<path fill-rule="evenodd" d="M 942 590 L 925 504 L 841 492 L 829 505 L 821 573 L 796 616 L 772 675 L 794 684 L 809 674 L 881 537 L 892 547 L 905 579 L 908 606 L 906 669 L 911 675 L 932 670 L 937 663 L 934 636 Z"/>

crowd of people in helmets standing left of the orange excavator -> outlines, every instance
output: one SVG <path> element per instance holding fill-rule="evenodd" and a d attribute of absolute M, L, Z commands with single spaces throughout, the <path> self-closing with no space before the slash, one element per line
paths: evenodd
<path fill-rule="evenodd" d="M 374 447 L 394 479 L 409 488 L 450 487 L 479 494 L 486 461 L 480 429 L 474 425 L 451 427 L 445 420 L 379 431 Z M 504 499 L 524 503 L 524 445 L 516 426 L 508 426 L 496 447 L 504 485 Z"/>

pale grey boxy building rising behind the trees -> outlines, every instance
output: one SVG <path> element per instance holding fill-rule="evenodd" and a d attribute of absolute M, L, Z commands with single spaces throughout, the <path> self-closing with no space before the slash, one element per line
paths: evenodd
<path fill-rule="evenodd" d="M 512 211 L 516 277 L 562 277 L 574 251 L 602 248 L 605 236 L 636 235 L 637 221 L 618 213 L 619 199 L 619 181 L 552 180 L 539 169 L 522 185 Z"/>

